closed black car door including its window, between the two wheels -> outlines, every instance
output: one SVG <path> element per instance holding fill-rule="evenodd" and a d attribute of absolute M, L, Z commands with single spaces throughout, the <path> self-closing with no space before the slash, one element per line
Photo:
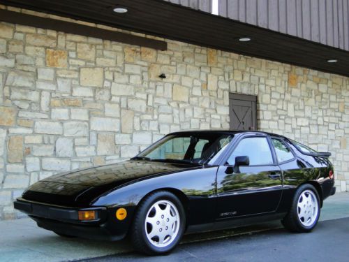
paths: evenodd
<path fill-rule="evenodd" d="M 247 156 L 248 166 L 234 168 L 235 157 Z M 267 135 L 244 136 L 217 173 L 217 219 L 274 212 L 282 193 L 281 169 Z"/>

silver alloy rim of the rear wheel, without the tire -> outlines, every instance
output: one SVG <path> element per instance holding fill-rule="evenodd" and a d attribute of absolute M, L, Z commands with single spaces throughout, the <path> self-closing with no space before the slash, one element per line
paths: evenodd
<path fill-rule="evenodd" d="M 298 219 L 303 226 L 311 226 L 318 218 L 318 198 L 314 192 L 306 189 L 297 202 Z"/>

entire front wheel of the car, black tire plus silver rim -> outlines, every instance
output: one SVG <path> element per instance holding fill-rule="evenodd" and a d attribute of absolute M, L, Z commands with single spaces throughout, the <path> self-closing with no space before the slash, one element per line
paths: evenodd
<path fill-rule="evenodd" d="M 146 254 L 166 254 L 181 240 L 185 228 L 183 205 L 174 194 L 157 191 L 144 198 L 135 214 L 131 240 Z"/>

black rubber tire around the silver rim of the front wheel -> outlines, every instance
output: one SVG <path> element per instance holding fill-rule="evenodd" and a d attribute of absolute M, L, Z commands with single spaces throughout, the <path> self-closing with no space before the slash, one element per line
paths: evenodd
<path fill-rule="evenodd" d="M 172 243 L 168 245 L 167 247 L 156 247 L 149 242 L 147 235 L 146 235 L 146 228 L 144 226 L 144 221 L 147 217 L 147 213 L 149 211 L 149 208 L 151 208 L 151 205 L 154 205 L 157 201 L 160 200 L 166 200 L 172 202 L 178 212 L 179 212 L 179 231 Z M 149 198 L 144 200 L 144 203 L 140 206 L 140 209 L 138 210 L 140 212 L 140 221 L 138 221 L 138 224 L 135 225 L 135 228 L 137 228 L 138 233 L 141 234 L 142 240 L 144 241 L 144 244 L 147 246 L 147 249 L 149 249 L 149 253 L 152 254 L 167 254 L 170 252 L 178 242 L 181 240 L 182 235 L 184 234 L 185 224 L 186 224 L 186 216 L 184 212 L 183 205 L 181 204 L 181 201 L 177 198 L 177 196 L 174 196 L 174 194 L 168 192 L 168 191 L 158 191 L 149 196 Z"/>

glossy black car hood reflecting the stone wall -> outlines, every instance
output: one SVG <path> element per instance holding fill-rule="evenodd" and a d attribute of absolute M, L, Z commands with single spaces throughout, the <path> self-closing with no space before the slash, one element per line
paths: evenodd
<path fill-rule="evenodd" d="M 122 184 L 191 168 L 200 166 L 129 160 L 47 177 L 31 185 L 22 198 L 53 205 L 84 207 L 94 198 Z"/>

